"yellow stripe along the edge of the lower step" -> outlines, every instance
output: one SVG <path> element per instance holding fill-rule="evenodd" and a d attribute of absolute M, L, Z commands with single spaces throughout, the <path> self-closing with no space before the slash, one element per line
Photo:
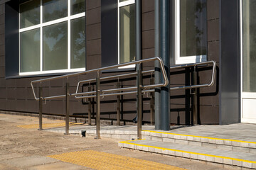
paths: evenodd
<path fill-rule="evenodd" d="M 124 143 L 124 144 L 129 144 L 129 145 L 137 145 L 137 146 L 140 146 L 140 147 L 152 147 L 152 148 L 155 148 L 155 149 L 171 150 L 171 151 L 175 151 L 175 152 L 183 152 L 183 153 L 188 153 L 188 154 L 198 154 L 198 155 L 203 155 L 203 156 L 208 156 L 208 157 L 218 157 L 218 158 L 223 158 L 223 159 L 231 159 L 231 160 L 235 160 L 235 161 L 248 162 L 248 163 L 256 164 L 256 162 L 245 160 L 245 159 L 222 157 L 222 156 L 217 156 L 217 155 L 213 155 L 213 154 L 202 154 L 202 153 L 197 153 L 197 152 L 188 152 L 188 151 L 177 150 L 177 149 L 169 149 L 169 148 L 164 148 L 164 147 L 154 147 L 154 146 L 150 146 L 150 145 L 130 143 L 130 142 L 133 142 L 133 141 L 134 140 L 130 140 L 130 141 L 127 141 L 127 142 L 119 142 L 119 143 Z"/>

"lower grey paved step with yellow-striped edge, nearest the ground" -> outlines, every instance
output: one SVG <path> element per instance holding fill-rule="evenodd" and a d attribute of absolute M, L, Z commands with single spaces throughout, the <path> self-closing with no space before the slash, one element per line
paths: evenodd
<path fill-rule="evenodd" d="M 119 142 L 118 145 L 119 147 L 137 149 L 145 152 L 256 169 L 256 154 L 253 153 L 227 151 L 218 148 L 182 145 L 154 140 L 131 140 Z"/>

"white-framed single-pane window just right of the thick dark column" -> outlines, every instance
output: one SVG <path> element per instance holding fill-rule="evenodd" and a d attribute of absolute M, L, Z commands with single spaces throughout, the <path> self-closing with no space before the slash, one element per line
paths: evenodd
<path fill-rule="evenodd" d="M 207 60 L 206 0 L 176 0 L 176 64 Z"/>

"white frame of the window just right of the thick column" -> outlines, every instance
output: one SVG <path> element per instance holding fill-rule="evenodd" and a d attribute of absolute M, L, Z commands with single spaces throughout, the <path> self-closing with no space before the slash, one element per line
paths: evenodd
<path fill-rule="evenodd" d="M 193 55 L 181 57 L 180 47 L 180 0 L 175 0 L 175 64 L 189 64 L 196 62 L 206 62 L 207 55 Z"/>

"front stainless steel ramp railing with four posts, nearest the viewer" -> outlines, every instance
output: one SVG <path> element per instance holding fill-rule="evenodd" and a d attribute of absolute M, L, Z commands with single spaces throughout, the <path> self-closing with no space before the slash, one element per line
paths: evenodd
<path fill-rule="evenodd" d="M 161 67 L 161 74 L 164 77 L 164 82 L 161 84 L 151 84 L 151 85 L 146 85 L 146 86 L 142 86 L 142 81 L 137 81 L 139 83 L 137 83 L 137 86 L 131 86 L 131 87 L 126 87 L 126 88 L 117 88 L 117 89 L 107 89 L 107 90 L 100 90 L 100 72 L 102 72 L 103 70 L 107 70 L 107 69 L 114 69 L 114 68 L 118 68 L 118 67 L 124 67 L 127 65 L 132 65 L 132 64 L 142 64 L 144 62 L 153 62 L 153 61 L 159 61 L 160 63 L 160 67 Z M 63 95 L 58 95 L 58 96 L 46 96 L 43 97 L 43 89 L 42 86 L 39 87 L 39 96 L 36 96 L 35 93 L 35 89 L 34 89 L 34 84 L 38 83 L 38 84 L 42 84 L 42 82 L 44 81 L 51 81 L 51 80 L 55 80 L 55 79 L 63 79 L 66 78 L 68 79 L 68 77 L 74 77 L 74 76 L 78 76 L 81 74 L 89 74 L 89 73 L 93 73 L 96 72 L 97 73 L 97 77 L 96 77 L 96 91 L 93 92 L 85 92 L 85 93 L 78 93 L 78 89 L 79 86 L 81 84 L 81 82 L 78 83 L 77 86 L 77 90 L 74 94 L 70 94 L 69 92 L 69 84 L 67 82 L 66 84 L 66 93 Z M 139 67 L 139 69 L 137 70 L 137 79 L 142 79 L 142 74 L 147 73 L 147 72 L 142 72 L 141 67 Z M 122 77 L 124 76 L 130 76 L 133 74 L 125 74 L 122 75 Z M 112 79 L 113 77 L 102 77 L 102 79 Z M 70 96 L 75 96 L 75 98 L 84 98 L 85 96 L 80 96 L 80 95 L 90 95 L 90 94 L 94 94 L 91 95 L 90 98 L 92 97 L 96 97 L 96 103 L 97 103 L 97 115 L 96 115 L 96 131 L 97 131 L 97 138 L 100 138 L 100 97 L 101 96 L 114 96 L 114 95 L 124 95 L 124 94 L 135 94 L 137 93 L 137 96 L 139 97 L 138 103 L 142 102 L 142 92 L 145 91 L 149 91 L 147 89 L 151 89 L 151 91 L 154 91 L 154 88 L 156 87 L 161 87 L 161 86 L 166 86 L 167 84 L 169 84 L 168 81 L 168 77 L 166 75 L 166 71 L 164 69 L 164 63 L 161 60 L 161 58 L 159 57 L 153 57 L 150 59 L 145 59 L 145 60 L 139 60 L 139 61 L 134 61 L 134 62 L 127 62 L 124 64 L 117 64 L 114 66 L 110 66 L 110 67 L 102 67 L 100 69 L 92 69 L 92 70 L 88 70 L 85 72 L 78 72 L 78 73 L 74 73 L 74 74 L 68 74 L 68 75 L 63 75 L 63 76 L 59 76 L 59 77 L 51 77 L 51 78 L 47 78 L 47 79 L 39 79 L 39 80 L 35 80 L 35 81 L 31 81 L 31 87 L 32 87 L 32 91 L 33 91 L 33 96 L 36 99 L 36 101 L 39 101 L 39 130 L 42 130 L 42 101 L 46 101 L 46 100 L 50 100 L 50 99 L 56 99 L 56 98 L 66 98 L 66 118 L 65 118 L 65 133 L 68 134 L 69 132 L 69 97 Z M 133 90 L 133 91 L 131 91 Z M 121 92 L 124 91 L 124 92 Z M 114 92 L 114 93 L 113 93 Z M 105 94 L 108 93 L 108 94 Z M 138 105 L 139 106 L 139 105 Z M 142 117 L 142 111 L 140 111 L 138 113 L 137 111 L 137 115 L 138 117 Z M 142 121 L 138 121 L 138 139 L 142 138 Z"/>

